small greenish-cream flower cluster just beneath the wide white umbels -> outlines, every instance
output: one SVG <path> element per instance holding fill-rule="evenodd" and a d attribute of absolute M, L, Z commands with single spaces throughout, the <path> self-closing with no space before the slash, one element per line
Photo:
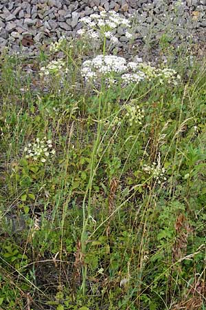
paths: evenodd
<path fill-rule="evenodd" d="M 126 105 L 126 118 L 128 123 L 132 126 L 134 123 L 141 125 L 142 118 L 144 118 L 144 109 L 135 104 L 135 100 Z"/>

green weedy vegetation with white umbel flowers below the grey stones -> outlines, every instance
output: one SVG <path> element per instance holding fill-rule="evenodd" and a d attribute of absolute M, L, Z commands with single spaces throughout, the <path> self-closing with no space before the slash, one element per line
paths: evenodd
<path fill-rule="evenodd" d="M 1 54 L 0 308 L 205 309 L 205 61 L 128 61 L 128 20 L 82 22 Z"/>

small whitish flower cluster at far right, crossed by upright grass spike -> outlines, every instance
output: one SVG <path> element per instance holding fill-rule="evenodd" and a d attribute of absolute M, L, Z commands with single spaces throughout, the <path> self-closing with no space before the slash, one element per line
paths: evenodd
<path fill-rule="evenodd" d="M 155 178 L 158 184 L 161 184 L 163 181 L 167 180 L 167 178 L 165 178 L 165 168 L 161 167 L 160 153 L 157 158 L 157 163 L 152 163 L 152 166 L 143 165 L 143 170 Z"/>

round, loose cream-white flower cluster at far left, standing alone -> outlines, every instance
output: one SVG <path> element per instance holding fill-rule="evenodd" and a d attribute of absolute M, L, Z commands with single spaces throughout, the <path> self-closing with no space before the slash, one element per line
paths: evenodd
<path fill-rule="evenodd" d="M 25 158 L 32 158 L 34 161 L 45 163 L 49 156 L 53 156 L 56 151 L 52 148 L 52 141 L 44 137 L 43 140 L 36 138 L 34 143 L 29 143 L 24 148 Z"/>

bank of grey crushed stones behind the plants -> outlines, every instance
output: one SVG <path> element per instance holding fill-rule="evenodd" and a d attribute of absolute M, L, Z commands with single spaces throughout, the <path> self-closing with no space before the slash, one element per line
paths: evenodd
<path fill-rule="evenodd" d="M 82 28 L 80 18 L 101 10 L 115 10 L 125 17 L 136 14 L 139 40 L 153 24 L 162 33 L 168 17 L 180 29 L 186 25 L 190 33 L 194 29 L 205 39 L 206 0 L 0 0 L 0 48 L 34 54 L 44 43 L 75 36 Z"/>

